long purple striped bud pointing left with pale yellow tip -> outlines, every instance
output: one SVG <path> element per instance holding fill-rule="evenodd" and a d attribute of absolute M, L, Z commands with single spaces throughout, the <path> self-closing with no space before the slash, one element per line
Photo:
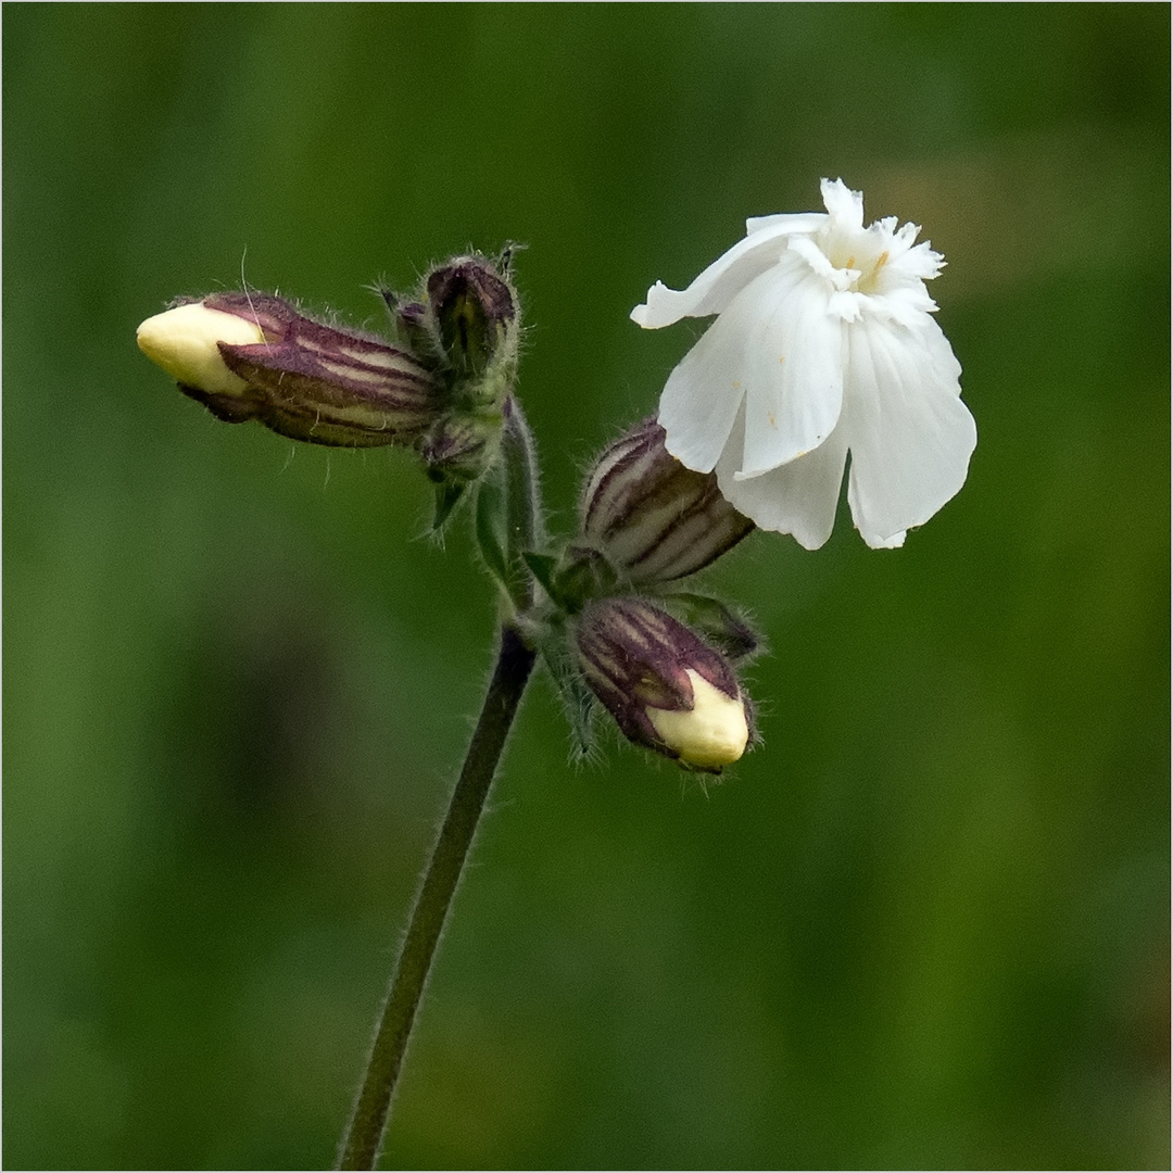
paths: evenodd
<path fill-rule="evenodd" d="M 414 443 L 442 408 L 439 384 L 406 351 L 269 294 L 176 306 L 140 326 L 138 345 L 218 419 L 258 420 L 291 440 Z"/>

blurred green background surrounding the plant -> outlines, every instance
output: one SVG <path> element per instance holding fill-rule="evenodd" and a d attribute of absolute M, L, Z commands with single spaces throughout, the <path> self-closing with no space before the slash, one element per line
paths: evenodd
<path fill-rule="evenodd" d="M 490 665 L 411 457 L 134 345 L 242 271 L 528 245 L 557 526 L 747 215 L 924 225 L 979 442 L 907 548 L 754 535 L 707 795 L 522 712 L 388 1137 L 415 1167 L 1168 1167 L 1169 9 L 7 6 L 4 1161 L 318 1167 Z"/>

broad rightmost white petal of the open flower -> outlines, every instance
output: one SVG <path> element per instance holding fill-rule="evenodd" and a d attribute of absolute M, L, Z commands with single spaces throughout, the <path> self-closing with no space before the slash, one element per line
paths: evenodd
<path fill-rule="evenodd" d="M 915 330 L 875 318 L 850 328 L 843 416 L 848 500 L 863 540 L 889 545 L 965 483 L 977 428 L 961 367 L 931 318 Z"/>

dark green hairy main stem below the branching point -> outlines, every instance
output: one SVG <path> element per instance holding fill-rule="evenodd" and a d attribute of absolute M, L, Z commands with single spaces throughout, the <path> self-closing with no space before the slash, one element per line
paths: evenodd
<path fill-rule="evenodd" d="M 415 899 L 407 936 L 379 1013 L 362 1086 L 338 1151 L 337 1167 L 340 1169 L 375 1167 L 432 958 L 533 667 L 534 652 L 511 626 L 506 626 L 501 632 L 501 650 L 484 706 Z"/>

